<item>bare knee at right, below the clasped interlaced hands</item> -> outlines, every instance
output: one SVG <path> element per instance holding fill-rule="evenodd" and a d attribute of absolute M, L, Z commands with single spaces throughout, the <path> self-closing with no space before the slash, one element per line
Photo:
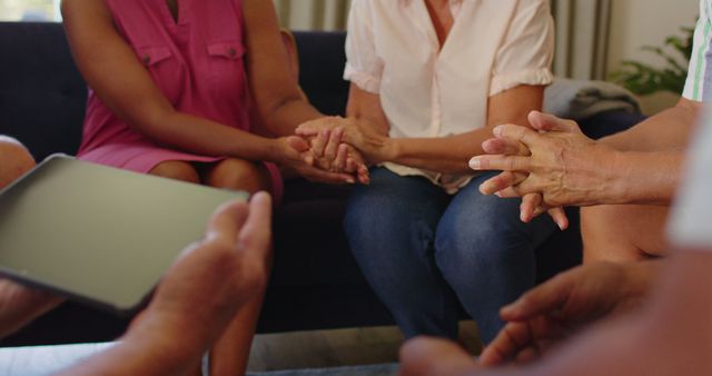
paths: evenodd
<path fill-rule="evenodd" d="M 584 263 L 636 261 L 665 255 L 668 207 L 606 205 L 581 210 Z"/>

